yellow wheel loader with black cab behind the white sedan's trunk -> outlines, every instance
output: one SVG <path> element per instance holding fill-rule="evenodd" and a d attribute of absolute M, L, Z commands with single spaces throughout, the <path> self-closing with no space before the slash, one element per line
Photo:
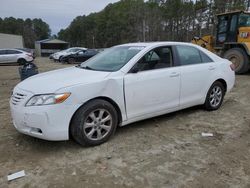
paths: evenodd
<path fill-rule="evenodd" d="M 250 68 L 250 12 L 234 11 L 217 15 L 216 36 L 194 37 L 200 45 L 235 65 L 237 74 Z"/>

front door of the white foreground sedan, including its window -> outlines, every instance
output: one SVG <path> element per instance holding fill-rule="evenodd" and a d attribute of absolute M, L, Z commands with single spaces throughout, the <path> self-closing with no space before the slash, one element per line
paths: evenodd
<path fill-rule="evenodd" d="M 155 48 L 144 55 L 124 77 L 128 119 L 164 112 L 179 106 L 180 70 L 172 48 Z"/>

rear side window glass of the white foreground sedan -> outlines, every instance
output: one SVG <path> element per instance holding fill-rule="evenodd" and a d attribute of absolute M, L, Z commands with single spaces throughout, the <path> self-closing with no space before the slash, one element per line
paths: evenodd
<path fill-rule="evenodd" d="M 176 46 L 181 65 L 213 62 L 204 52 L 192 46 Z"/>

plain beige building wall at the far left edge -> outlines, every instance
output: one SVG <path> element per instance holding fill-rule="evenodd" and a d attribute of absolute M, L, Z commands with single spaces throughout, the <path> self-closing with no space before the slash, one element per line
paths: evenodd
<path fill-rule="evenodd" d="M 23 48 L 23 37 L 0 33 L 0 49 L 3 48 Z"/>

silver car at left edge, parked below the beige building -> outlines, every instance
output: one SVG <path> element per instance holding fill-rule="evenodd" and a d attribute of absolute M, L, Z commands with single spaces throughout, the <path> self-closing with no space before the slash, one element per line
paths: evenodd
<path fill-rule="evenodd" d="M 33 61 L 33 55 L 18 49 L 0 49 L 0 64 L 18 63 L 23 65 Z"/>

